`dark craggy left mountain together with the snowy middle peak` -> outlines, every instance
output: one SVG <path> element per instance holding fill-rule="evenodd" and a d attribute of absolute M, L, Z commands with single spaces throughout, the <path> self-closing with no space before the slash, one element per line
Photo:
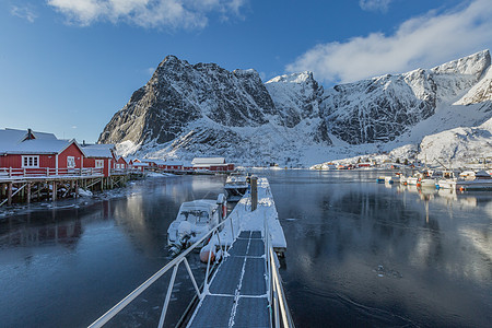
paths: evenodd
<path fill-rule="evenodd" d="M 279 102 L 292 103 L 291 110 L 279 109 L 266 85 L 282 94 Z M 230 72 L 167 56 L 115 114 L 99 142 L 116 143 L 124 155 L 294 163 L 300 150 L 331 144 L 318 93 L 323 87 L 312 74 L 263 84 L 255 70 Z"/>

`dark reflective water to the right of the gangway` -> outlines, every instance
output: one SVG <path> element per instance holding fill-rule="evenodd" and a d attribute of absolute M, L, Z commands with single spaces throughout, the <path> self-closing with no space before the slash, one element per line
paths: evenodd
<path fill-rule="evenodd" d="M 280 216 L 297 218 L 282 222 L 282 277 L 297 323 L 489 326 L 491 195 L 309 174 L 291 174 L 286 186 L 271 174 Z"/>

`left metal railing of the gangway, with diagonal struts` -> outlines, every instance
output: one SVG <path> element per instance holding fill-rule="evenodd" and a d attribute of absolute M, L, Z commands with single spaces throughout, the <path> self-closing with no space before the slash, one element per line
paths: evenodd
<path fill-rule="evenodd" d="M 218 245 L 215 244 L 215 239 L 214 239 L 214 237 L 216 237 L 216 242 L 219 243 L 220 249 L 223 253 L 226 251 L 229 248 L 226 248 L 227 246 L 225 244 L 222 244 L 221 238 L 220 238 L 220 231 L 221 231 L 222 227 L 225 227 L 225 225 L 227 224 L 227 221 L 231 224 L 232 236 L 234 236 L 233 222 L 231 220 L 231 215 L 229 215 L 224 221 L 222 221 L 220 224 L 215 225 L 210 232 L 208 232 L 204 236 L 202 236 L 198 242 L 196 242 L 195 244 L 192 244 L 191 246 L 186 248 L 181 254 L 179 254 L 177 257 L 175 257 L 171 262 L 168 262 L 166 266 L 164 266 L 161 270 L 155 272 L 144 283 L 142 283 L 134 291 L 132 291 L 130 294 L 128 294 L 125 298 L 122 298 L 118 304 L 113 306 L 108 312 L 106 312 L 104 315 L 102 315 L 97 320 L 95 320 L 89 327 L 90 328 L 103 327 L 107 321 L 109 321 L 119 312 L 121 312 L 127 305 L 129 305 L 137 296 L 139 296 L 149 286 L 151 286 L 154 282 L 156 282 L 164 273 L 166 273 L 167 271 L 173 269 L 173 273 L 172 273 L 172 277 L 171 277 L 171 280 L 169 280 L 169 284 L 167 286 L 167 293 L 166 293 L 166 297 L 164 300 L 164 305 L 163 305 L 163 308 L 162 308 L 161 317 L 159 319 L 159 326 L 157 327 L 160 327 L 160 328 L 163 327 L 164 320 L 165 320 L 165 316 L 166 316 L 166 313 L 167 313 L 167 307 L 168 307 L 169 301 L 171 301 L 171 294 L 173 292 L 174 283 L 175 283 L 175 280 L 176 280 L 177 270 L 178 270 L 178 268 L 179 268 L 179 266 L 181 263 L 185 263 L 185 267 L 186 267 L 186 270 L 188 272 L 188 276 L 190 277 L 190 280 L 191 280 L 191 282 L 194 284 L 196 294 L 198 295 L 199 300 L 202 300 L 204 297 L 204 295 L 208 293 L 209 285 L 211 283 L 211 281 L 209 281 L 209 278 L 210 278 L 211 271 L 213 270 L 213 268 L 211 267 L 212 251 L 209 251 L 209 257 L 208 257 L 208 260 L 207 260 L 207 271 L 206 271 L 206 277 L 204 277 L 204 281 L 203 281 L 203 288 L 202 288 L 201 291 L 198 288 L 197 280 L 195 279 L 195 276 L 194 276 L 194 273 L 191 271 L 191 268 L 189 267 L 189 263 L 188 263 L 188 260 L 186 259 L 186 256 L 188 254 L 190 254 L 195 248 L 200 247 L 200 245 L 202 245 L 202 243 L 204 241 L 207 241 L 208 237 L 210 237 L 210 242 L 209 242 L 210 249 L 212 249 L 212 247 L 216 248 Z M 231 245 L 232 245 L 232 243 L 231 243 Z M 230 245 L 230 247 L 231 247 L 231 245 Z M 214 261 L 213 266 L 215 266 L 216 262 L 218 261 Z"/>

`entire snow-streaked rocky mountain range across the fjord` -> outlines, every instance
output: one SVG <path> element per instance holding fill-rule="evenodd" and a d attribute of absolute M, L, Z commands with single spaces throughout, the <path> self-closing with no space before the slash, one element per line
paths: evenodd
<path fill-rule="evenodd" d="M 484 129 L 479 126 L 492 117 L 490 67 L 484 50 L 429 70 L 324 90 L 311 72 L 263 84 L 255 70 L 231 72 L 167 56 L 99 142 L 116 143 L 124 155 L 221 155 L 292 166 L 397 148 L 415 152 L 425 136 Z"/>

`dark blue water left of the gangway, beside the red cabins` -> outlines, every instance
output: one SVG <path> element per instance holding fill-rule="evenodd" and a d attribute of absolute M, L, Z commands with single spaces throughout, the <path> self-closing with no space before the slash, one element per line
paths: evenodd
<path fill-rule="evenodd" d="M 87 326 L 169 260 L 166 230 L 180 203 L 216 198 L 223 180 L 148 179 L 75 206 L 35 203 L 0 221 L 0 326 Z M 202 270 L 199 261 L 190 266 Z M 166 283 L 132 305 L 133 323 L 159 320 Z M 192 284 L 181 292 L 189 297 L 173 305 L 178 309 L 168 326 L 192 296 Z"/>

